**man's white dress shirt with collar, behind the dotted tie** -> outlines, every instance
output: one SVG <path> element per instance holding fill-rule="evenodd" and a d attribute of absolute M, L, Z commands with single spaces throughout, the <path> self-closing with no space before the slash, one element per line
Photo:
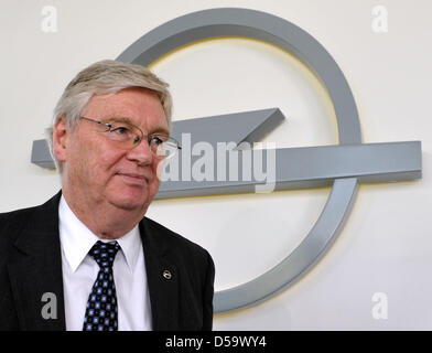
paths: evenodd
<path fill-rule="evenodd" d="M 72 212 L 62 195 L 58 206 L 62 270 L 67 331 L 82 331 L 86 304 L 99 271 L 88 255 L 100 239 Z M 121 249 L 112 265 L 118 303 L 119 331 L 151 330 L 151 307 L 147 284 L 144 252 L 138 225 L 116 239 Z"/>

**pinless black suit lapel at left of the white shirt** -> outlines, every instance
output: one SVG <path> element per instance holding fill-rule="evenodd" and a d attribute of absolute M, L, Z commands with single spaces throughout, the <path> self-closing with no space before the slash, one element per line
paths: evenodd
<path fill-rule="evenodd" d="M 61 193 L 22 220 L 24 225 L 9 257 L 20 330 L 65 330 L 60 199 Z"/>

